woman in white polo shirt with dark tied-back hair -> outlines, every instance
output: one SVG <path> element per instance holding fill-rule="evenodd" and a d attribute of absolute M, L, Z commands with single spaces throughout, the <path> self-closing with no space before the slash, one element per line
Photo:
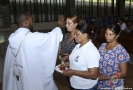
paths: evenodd
<path fill-rule="evenodd" d="M 100 55 L 91 42 L 95 36 L 91 27 L 81 24 L 76 27 L 75 40 L 78 43 L 69 56 L 69 69 L 63 72 L 70 77 L 73 90 L 95 90 Z"/>

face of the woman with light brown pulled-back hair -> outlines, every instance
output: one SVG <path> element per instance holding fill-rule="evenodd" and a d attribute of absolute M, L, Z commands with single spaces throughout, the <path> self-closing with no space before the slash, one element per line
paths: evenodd
<path fill-rule="evenodd" d="M 74 22 L 70 18 L 66 19 L 67 31 L 71 32 L 71 31 L 75 30 L 76 26 L 77 26 L 77 23 L 74 24 Z"/>

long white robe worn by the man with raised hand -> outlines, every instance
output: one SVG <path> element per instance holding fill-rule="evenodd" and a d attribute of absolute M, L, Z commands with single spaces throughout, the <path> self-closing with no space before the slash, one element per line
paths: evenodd
<path fill-rule="evenodd" d="M 17 64 L 23 68 L 16 67 L 13 53 L 17 53 L 19 45 L 28 31 L 29 29 L 19 28 L 9 37 L 3 90 L 58 90 L 53 80 L 53 73 L 59 42 L 63 37 L 61 29 L 56 27 L 49 33 L 29 32 L 16 57 Z M 19 81 L 13 75 L 13 71 L 22 73 Z"/>

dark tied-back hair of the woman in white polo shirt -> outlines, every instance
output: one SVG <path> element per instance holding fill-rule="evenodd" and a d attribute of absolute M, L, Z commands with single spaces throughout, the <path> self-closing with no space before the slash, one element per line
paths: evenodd
<path fill-rule="evenodd" d="M 76 29 L 79 30 L 81 33 L 87 33 L 89 39 L 93 39 L 95 37 L 95 33 L 93 32 L 92 28 L 88 24 L 80 24 L 76 26 Z"/>

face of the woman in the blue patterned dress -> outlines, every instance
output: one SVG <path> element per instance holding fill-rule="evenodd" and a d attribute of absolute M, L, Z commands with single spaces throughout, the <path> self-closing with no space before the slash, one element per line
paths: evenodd
<path fill-rule="evenodd" d="M 117 35 L 112 32 L 109 28 L 107 28 L 105 32 L 105 39 L 107 42 L 113 42 L 117 39 Z"/>

